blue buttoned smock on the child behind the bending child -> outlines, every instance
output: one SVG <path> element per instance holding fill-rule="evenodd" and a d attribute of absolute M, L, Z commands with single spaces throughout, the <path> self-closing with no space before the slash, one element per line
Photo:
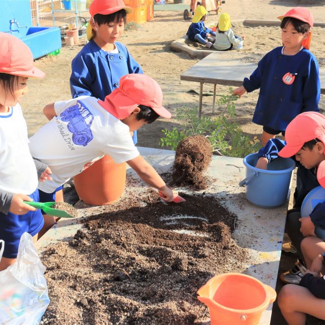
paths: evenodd
<path fill-rule="evenodd" d="M 91 40 L 72 60 L 70 88 L 73 98 L 86 95 L 104 101 L 118 88 L 121 77 L 143 73 L 126 47 L 119 42 L 114 44 L 119 53 L 107 53 Z M 133 141 L 137 143 L 137 132 L 134 132 Z"/>

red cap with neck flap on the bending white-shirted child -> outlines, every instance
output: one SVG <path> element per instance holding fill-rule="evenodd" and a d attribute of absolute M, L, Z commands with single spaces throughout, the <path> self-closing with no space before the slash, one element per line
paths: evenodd
<path fill-rule="evenodd" d="M 162 106 L 163 92 L 155 80 L 143 74 L 129 74 L 120 79 L 119 87 L 98 103 L 118 119 L 129 116 L 136 107 L 151 107 L 158 115 L 171 118 L 172 114 Z"/>

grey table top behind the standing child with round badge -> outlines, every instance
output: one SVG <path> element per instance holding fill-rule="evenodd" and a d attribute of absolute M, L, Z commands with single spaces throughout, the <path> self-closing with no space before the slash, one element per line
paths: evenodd
<path fill-rule="evenodd" d="M 239 60 L 220 61 L 218 52 L 211 53 L 181 74 L 181 80 L 219 85 L 241 86 L 257 68 L 256 63 Z M 320 93 L 325 94 L 325 69 L 319 69 Z"/>

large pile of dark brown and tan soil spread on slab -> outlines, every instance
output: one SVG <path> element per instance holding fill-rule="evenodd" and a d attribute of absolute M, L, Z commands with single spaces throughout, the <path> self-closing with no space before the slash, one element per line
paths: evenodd
<path fill-rule="evenodd" d="M 246 253 L 231 237 L 234 214 L 204 194 L 181 196 L 180 204 L 153 190 L 128 196 L 87 219 L 69 242 L 50 246 L 42 257 L 51 300 L 43 323 L 207 320 L 197 290 L 216 274 L 241 272 Z"/>

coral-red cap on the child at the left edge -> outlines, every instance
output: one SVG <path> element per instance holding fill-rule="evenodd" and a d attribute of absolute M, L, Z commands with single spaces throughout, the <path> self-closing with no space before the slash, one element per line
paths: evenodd
<path fill-rule="evenodd" d="M 0 73 L 9 75 L 44 78 L 45 73 L 34 67 L 29 47 L 17 37 L 0 32 Z"/>

